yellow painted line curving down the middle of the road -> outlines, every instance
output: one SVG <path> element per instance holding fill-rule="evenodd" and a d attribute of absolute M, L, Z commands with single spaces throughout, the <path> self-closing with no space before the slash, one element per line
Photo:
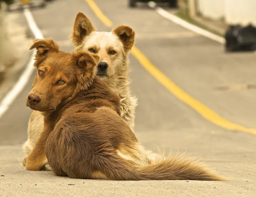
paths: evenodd
<path fill-rule="evenodd" d="M 90 3 L 93 2 L 93 0 L 86 0 L 86 1 L 87 1 L 87 3 L 88 3 L 88 1 Z M 95 12 L 96 16 L 98 16 L 97 12 L 100 11 L 100 9 L 94 2 L 93 2 L 92 10 Z M 102 11 L 100 11 L 100 12 L 102 13 Z M 106 25 L 105 21 L 110 21 L 104 14 L 102 14 L 101 17 L 99 17 L 99 19 L 105 25 Z M 111 24 L 112 24 L 112 22 L 111 22 Z M 255 128 L 246 128 L 244 126 L 240 126 L 238 124 L 235 124 L 228 120 L 225 120 L 224 118 L 222 118 L 218 114 L 216 114 L 214 111 L 212 111 L 210 108 L 208 108 L 204 104 L 200 103 L 198 100 L 191 97 L 185 91 L 180 89 L 175 83 L 173 83 L 168 77 L 166 77 L 166 75 L 164 75 L 159 69 L 157 69 L 136 46 L 133 46 L 133 48 L 131 49 L 131 53 L 140 62 L 140 64 L 159 83 L 161 83 L 164 87 L 166 87 L 166 89 L 168 89 L 178 99 L 182 100 L 184 103 L 189 105 L 191 108 L 195 109 L 195 111 L 197 111 L 199 114 L 201 114 L 201 116 L 204 117 L 205 119 L 209 120 L 210 122 L 214 123 L 215 125 L 218 125 L 222 128 L 228 129 L 228 130 L 244 131 L 244 132 L 256 135 Z"/>

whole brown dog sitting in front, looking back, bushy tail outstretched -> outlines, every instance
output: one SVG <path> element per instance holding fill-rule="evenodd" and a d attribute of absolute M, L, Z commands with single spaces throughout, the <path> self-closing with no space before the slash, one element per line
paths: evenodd
<path fill-rule="evenodd" d="M 120 98 L 95 76 L 93 57 L 59 51 L 51 39 L 31 48 L 38 49 L 38 74 L 26 105 L 43 111 L 44 131 L 27 169 L 40 170 L 47 156 L 55 174 L 71 178 L 223 180 L 190 160 L 145 162 L 143 146 L 120 117 Z"/>

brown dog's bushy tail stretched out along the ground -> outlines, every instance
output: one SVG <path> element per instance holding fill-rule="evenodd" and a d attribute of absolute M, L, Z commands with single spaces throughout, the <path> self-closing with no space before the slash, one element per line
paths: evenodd
<path fill-rule="evenodd" d="M 198 163 L 180 157 L 161 159 L 146 166 L 133 166 L 116 155 L 108 159 L 108 165 L 102 166 L 101 171 L 111 180 L 226 180 Z"/>

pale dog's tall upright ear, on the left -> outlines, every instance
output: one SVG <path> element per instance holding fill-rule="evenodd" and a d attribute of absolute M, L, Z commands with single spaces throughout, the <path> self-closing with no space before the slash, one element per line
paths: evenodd
<path fill-rule="evenodd" d="M 82 13 L 76 15 L 76 20 L 73 27 L 72 40 L 75 46 L 82 43 L 85 36 L 95 31 L 90 20 Z"/>

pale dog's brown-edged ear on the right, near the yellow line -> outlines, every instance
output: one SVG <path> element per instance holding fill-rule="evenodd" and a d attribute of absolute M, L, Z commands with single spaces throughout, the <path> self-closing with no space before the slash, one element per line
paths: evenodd
<path fill-rule="evenodd" d="M 133 29 L 128 26 L 118 26 L 113 29 L 112 32 L 119 37 L 127 51 L 131 50 L 135 37 L 135 32 Z"/>

